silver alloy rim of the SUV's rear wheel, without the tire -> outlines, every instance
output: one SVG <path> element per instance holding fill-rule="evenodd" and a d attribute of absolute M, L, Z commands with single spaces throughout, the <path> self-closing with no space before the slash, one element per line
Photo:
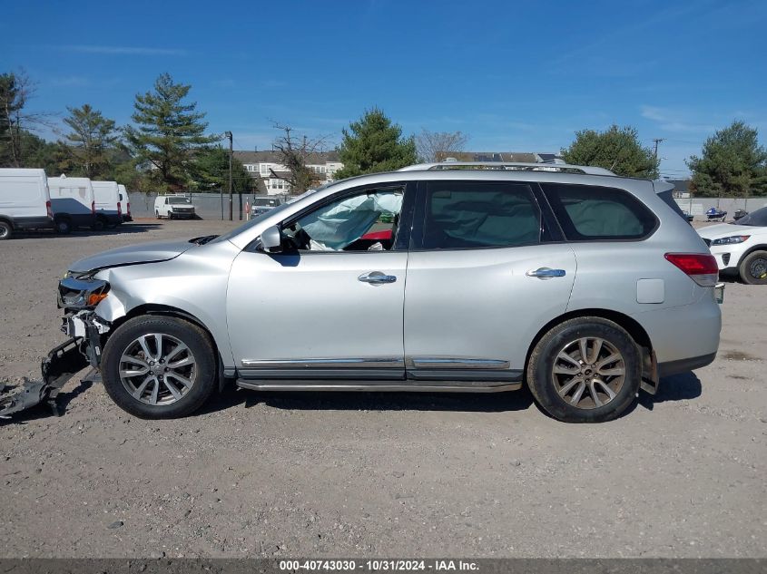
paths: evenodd
<path fill-rule="evenodd" d="M 552 367 L 556 393 L 567 404 L 595 409 L 615 399 L 624 385 L 624 356 L 595 336 L 575 339 L 559 351 Z"/>

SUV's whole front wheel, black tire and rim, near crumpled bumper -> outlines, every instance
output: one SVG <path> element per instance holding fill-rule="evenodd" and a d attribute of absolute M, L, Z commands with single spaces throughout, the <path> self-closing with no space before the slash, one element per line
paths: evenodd
<path fill-rule="evenodd" d="M 143 419 L 191 414 L 216 388 L 211 337 L 170 316 L 138 316 L 119 326 L 104 345 L 101 368 L 114 403 Z"/>

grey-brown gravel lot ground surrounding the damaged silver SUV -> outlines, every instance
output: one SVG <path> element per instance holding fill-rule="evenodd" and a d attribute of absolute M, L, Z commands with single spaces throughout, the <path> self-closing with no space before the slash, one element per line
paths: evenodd
<path fill-rule="evenodd" d="M 0 376 L 39 376 L 77 258 L 217 221 L 0 242 Z M 718 358 L 613 423 L 527 391 L 258 394 L 142 421 L 100 385 L 0 425 L 0 557 L 767 555 L 767 288 L 729 283 Z"/>

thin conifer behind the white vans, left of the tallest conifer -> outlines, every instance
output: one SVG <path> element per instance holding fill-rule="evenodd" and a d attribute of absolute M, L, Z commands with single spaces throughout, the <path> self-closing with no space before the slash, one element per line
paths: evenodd
<path fill-rule="evenodd" d="M 103 179 L 113 169 L 113 151 L 119 139 L 114 121 L 87 103 L 67 110 L 69 117 L 64 123 L 71 131 L 64 134 L 61 143 L 69 153 L 71 171 L 92 180 Z"/>

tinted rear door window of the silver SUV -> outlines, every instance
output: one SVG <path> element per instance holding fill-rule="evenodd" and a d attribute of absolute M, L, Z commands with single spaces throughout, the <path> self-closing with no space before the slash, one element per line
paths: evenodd
<path fill-rule="evenodd" d="M 540 238 L 541 214 L 527 184 L 428 184 L 424 248 L 514 247 Z"/>

